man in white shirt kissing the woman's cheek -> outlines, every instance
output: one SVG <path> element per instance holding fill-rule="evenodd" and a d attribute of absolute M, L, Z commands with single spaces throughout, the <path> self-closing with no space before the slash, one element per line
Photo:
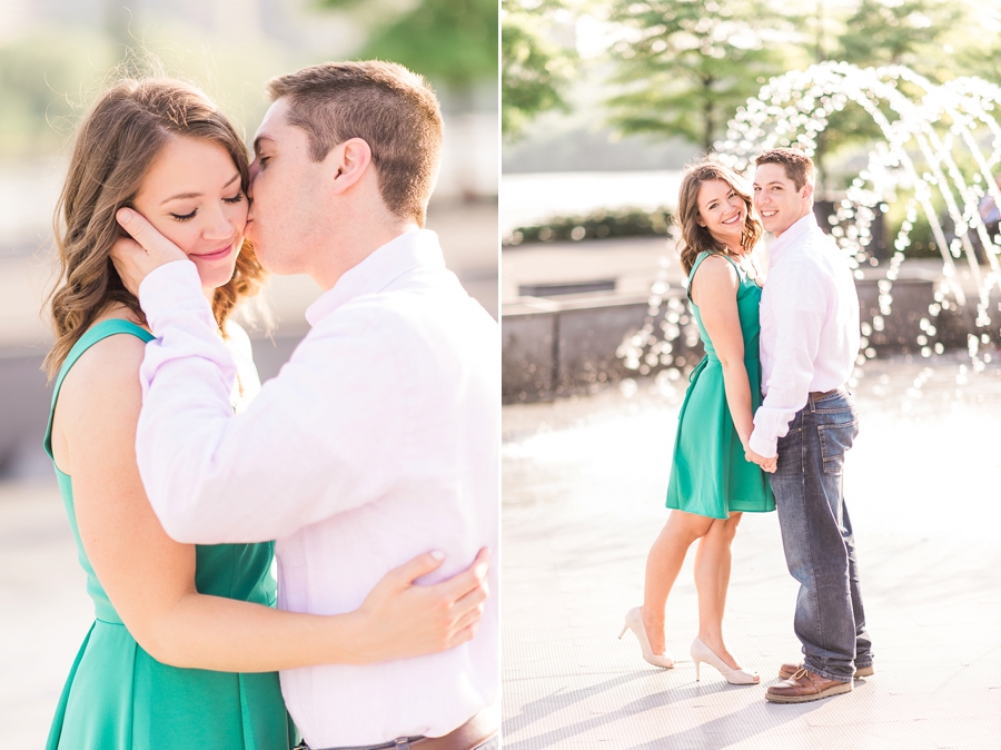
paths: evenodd
<path fill-rule="evenodd" d="M 497 547 L 498 327 L 422 228 L 442 141 L 424 80 L 394 63 L 325 63 L 269 92 L 246 231 L 266 268 L 325 289 L 313 328 L 234 415 L 232 363 L 194 265 L 121 209 L 142 247 L 120 243 L 115 261 L 158 337 L 137 456 L 172 537 L 275 539 L 279 606 L 349 612 L 419 553 L 446 555 L 422 580 L 433 584 Z M 303 747 L 497 747 L 496 598 L 482 612 L 475 638 L 438 653 L 281 672 Z"/>

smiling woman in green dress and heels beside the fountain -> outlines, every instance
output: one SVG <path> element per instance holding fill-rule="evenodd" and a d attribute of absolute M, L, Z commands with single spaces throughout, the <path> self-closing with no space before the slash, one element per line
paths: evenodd
<path fill-rule="evenodd" d="M 674 667 L 664 632 L 667 595 L 696 540 L 695 588 L 698 634 L 691 655 L 698 667 L 715 667 L 727 682 L 753 684 L 726 649 L 723 610 L 730 584 L 731 545 L 741 514 L 775 510 L 762 468 L 744 457 L 761 403 L 759 302 L 761 277 L 752 251 L 763 228 L 751 194 L 730 169 L 702 162 L 682 180 L 675 217 L 688 299 L 705 358 L 693 371 L 678 416 L 667 489 L 667 523 L 646 561 L 643 606 L 626 613 L 643 658 Z"/>

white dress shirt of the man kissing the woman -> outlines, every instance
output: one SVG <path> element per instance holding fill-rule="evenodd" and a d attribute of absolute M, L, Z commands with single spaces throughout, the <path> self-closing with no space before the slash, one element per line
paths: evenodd
<path fill-rule="evenodd" d="M 497 324 L 415 230 L 346 273 L 313 328 L 241 414 L 234 365 L 194 264 L 151 273 L 140 302 L 157 341 L 141 367 L 137 456 L 167 533 L 187 543 L 275 539 L 278 605 L 358 608 L 390 569 L 429 550 L 452 576 L 488 546 L 479 631 L 449 651 L 281 673 L 310 746 L 446 734 L 499 692 Z"/>

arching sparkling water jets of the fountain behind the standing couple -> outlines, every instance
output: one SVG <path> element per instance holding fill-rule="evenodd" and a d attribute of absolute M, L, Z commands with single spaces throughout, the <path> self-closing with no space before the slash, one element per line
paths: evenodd
<path fill-rule="evenodd" d="M 932 339 L 943 312 L 959 313 L 967 306 L 967 290 L 958 272 L 958 263 L 965 259 L 977 299 L 967 345 L 972 369 L 980 372 L 991 356 L 981 353 L 981 345 L 991 342 L 991 290 L 997 287 L 1001 292 L 1001 236 L 989 236 L 978 211 L 985 194 L 1001 206 L 994 178 L 1001 165 L 1001 126 L 991 114 L 1001 105 L 1001 88 L 977 78 L 936 85 L 901 66 L 861 69 L 845 62 L 824 62 L 769 81 L 729 124 L 726 138 L 715 147 L 717 158 L 746 172 L 753 156 L 770 148 L 801 148 L 813 156 L 830 117 L 852 105 L 861 107 L 882 135 L 869 155 L 868 166 L 852 179 L 830 218 L 831 235 L 856 278 L 861 279 L 863 267 L 873 261 L 871 229 L 878 213 L 905 201 L 905 218 L 893 239 L 885 278 L 878 283 L 878 314 L 862 325 L 858 364 L 861 368 L 876 356 L 869 338 L 883 329 L 891 314 L 893 284 L 920 211 L 941 253 L 944 282 L 935 290 L 928 315 L 919 320 L 916 351 L 923 357 L 943 352 L 942 344 Z M 953 225 L 949 238 L 936 204 L 944 207 Z M 978 245 L 983 249 L 983 260 L 978 257 Z M 645 325 L 618 349 L 625 366 L 640 374 L 667 364 L 668 357 L 663 355 L 682 335 L 677 310 L 661 313 L 667 294 L 662 273 L 652 288 Z M 957 379 L 963 378 L 965 368 Z"/>

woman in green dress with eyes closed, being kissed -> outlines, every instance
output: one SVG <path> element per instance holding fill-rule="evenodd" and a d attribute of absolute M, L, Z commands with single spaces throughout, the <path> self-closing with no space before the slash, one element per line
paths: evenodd
<path fill-rule="evenodd" d="M 153 514 L 135 453 L 139 366 L 152 336 L 110 259 L 116 213 L 140 211 L 195 263 L 238 364 L 239 409 L 260 387 L 249 339 L 230 318 L 264 277 L 244 241 L 248 185 L 234 126 L 178 81 L 121 81 L 78 129 L 57 209 L 46 450 L 96 620 L 49 750 L 288 750 L 295 730 L 276 670 L 422 655 L 475 632 L 480 566 L 413 585 L 442 564 L 429 551 L 387 574 L 355 612 L 280 612 L 272 543 L 180 544 Z"/>

